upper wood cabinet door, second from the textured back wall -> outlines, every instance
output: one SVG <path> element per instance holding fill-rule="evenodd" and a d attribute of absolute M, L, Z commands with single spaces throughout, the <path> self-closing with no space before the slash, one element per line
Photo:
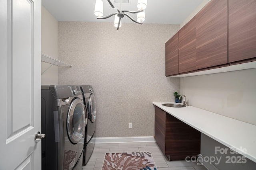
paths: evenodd
<path fill-rule="evenodd" d="M 196 17 L 179 31 L 179 73 L 196 70 Z"/>

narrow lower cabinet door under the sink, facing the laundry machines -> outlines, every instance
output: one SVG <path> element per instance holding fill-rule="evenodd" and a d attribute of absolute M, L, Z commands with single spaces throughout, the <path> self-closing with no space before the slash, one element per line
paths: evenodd
<path fill-rule="evenodd" d="M 155 136 L 156 143 L 165 151 L 165 111 L 155 106 Z"/>

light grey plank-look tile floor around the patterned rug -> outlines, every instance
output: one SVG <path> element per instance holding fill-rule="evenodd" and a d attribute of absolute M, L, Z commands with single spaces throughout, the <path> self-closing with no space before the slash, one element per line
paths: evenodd
<path fill-rule="evenodd" d="M 139 152 L 149 151 L 153 155 L 158 170 L 207 170 L 196 162 L 168 161 L 155 142 L 148 143 L 104 143 L 95 144 L 92 156 L 83 170 L 101 170 L 104 154 L 110 152 Z"/>

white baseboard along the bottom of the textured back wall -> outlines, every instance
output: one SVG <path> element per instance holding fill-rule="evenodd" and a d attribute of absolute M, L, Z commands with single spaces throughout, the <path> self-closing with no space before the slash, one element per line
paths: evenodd
<path fill-rule="evenodd" d="M 154 137 L 95 137 L 95 143 L 155 142 Z"/>

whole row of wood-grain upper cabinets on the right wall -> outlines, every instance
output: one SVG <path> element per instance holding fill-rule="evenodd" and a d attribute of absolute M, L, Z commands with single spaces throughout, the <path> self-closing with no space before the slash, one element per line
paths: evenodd
<path fill-rule="evenodd" d="M 256 68 L 246 65 L 256 61 L 255 9 L 256 0 L 211 0 L 166 43 L 166 76 Z"/>

